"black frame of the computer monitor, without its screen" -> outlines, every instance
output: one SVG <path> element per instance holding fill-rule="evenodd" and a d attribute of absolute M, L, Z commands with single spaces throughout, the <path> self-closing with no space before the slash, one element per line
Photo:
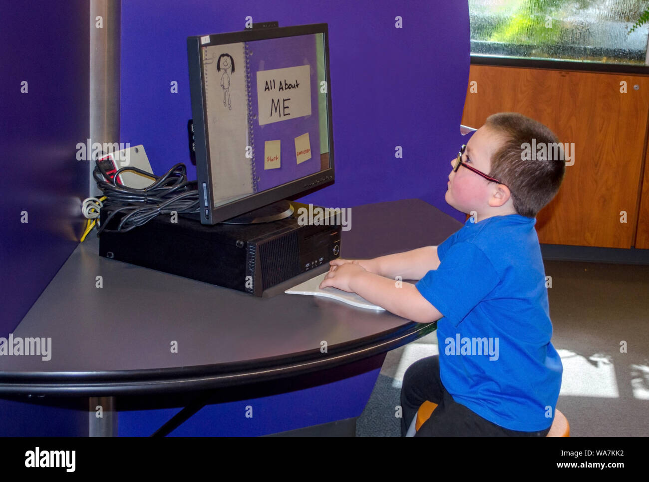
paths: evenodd
<path fill-rule="evenodd" d="M 214 206 L 212 194 L 212 169 L 209 157 L 209 139 L 207 132 L 207 111 L 205 90 L 203 88 L 203 67 L 201 61 L 201 48 L 206 45 L 234 44 L 238 42 L 254 42 L 271 38 L 299 36 L 308 34 L 324 34 L 324 73 L 326 77 L 326 105 L 329 142 L 329 167 L 269 188 L 250 196 L 236 199 L 223 205 Z M 187 55 L 190 71 L 191 114 L 193 116 L 193 129 L 196 153 L 196 171 L 201 203 L 201 223 L 216 224 L 235 216 L 239 216 L 254 209 L 269 205 L 275 201 L 296 196 L 302 192 L 313 190 L 315 187 L 324 187 L 334 183 L 334 127 L 332 123 L 332 98 L 331 98 L 331 72 L 329 64 L 329 31 L 326 23 L 310 25 L 295 25 L 293 27 L 275 27 L 247 29 L 241 32 L 227 32 L 196 35 L 187 38 Z"/>

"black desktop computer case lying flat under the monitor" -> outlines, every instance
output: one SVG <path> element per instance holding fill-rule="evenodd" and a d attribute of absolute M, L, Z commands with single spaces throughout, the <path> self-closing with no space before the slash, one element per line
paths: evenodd
<path fill-rule="evenodd" d="M 99 255 L 262 296 L 339 256 L 340 216 L 324 210 L 319 225 L 306 224 L 298 212 L 309 206 L 291 204 L 295 210 L 288 218 L 243 225 L 160 214 L 125 233 L 103 231 Z M 102 226 L 110 213 L 110 207 L 101 210 Z M 114 216 L 106 229 L 116 229 L 120 219 Z"/>

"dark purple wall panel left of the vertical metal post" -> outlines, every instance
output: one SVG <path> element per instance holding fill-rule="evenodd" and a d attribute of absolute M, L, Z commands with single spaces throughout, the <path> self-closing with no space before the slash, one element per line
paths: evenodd
<path fill-rule="evenodd" d="M 0 336 L 16 328 L 82 232 L 88 166 L 76 145 L 89 128 L 88 8 L 86 0 L 2 6 Z"/>

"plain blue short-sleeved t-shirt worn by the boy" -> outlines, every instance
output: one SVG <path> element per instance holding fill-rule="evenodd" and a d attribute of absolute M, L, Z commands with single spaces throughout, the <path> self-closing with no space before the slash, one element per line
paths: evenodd
<path fill-rule="evenodd" d="M 520 214 L 467 220 L 437 247 L 437 270 L 415 285 L 444 316 L 437 322 L 444 387 L 456 402 L 517 431 L 552 424 L 563 372 L 550 343 L 535 223 Z"/>

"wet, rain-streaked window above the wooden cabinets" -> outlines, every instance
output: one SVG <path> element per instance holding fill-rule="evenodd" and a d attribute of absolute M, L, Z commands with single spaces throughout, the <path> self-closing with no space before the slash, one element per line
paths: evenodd
<path fill-rule="evenodd" d="M 471 53 L 646 64 L 646 0 L 469 0 Z"/>

